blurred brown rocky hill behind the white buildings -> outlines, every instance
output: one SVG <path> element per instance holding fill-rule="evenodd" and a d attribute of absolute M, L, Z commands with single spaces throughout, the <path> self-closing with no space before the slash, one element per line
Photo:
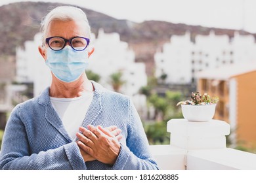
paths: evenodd
<path fill-rule="evenodd" d="M 20 2 L 1 6 L 0 61 L 3 61 L 6 56 L 14 56 L 16 46 L 22 46 L 25 41 L 32 40 L 35 33 L 39 31 L 41 18 L 59 5 L 64 4 Z M 146 21 L 138 24 L 129 20 L 117 20 L 87 8 L 82 9 L 87 14 L 93 33 L 97 34 L 101 27 L 106 33 L 119 33 L 121 41 L 128 42 L 135 51 L 136 61 L 146 63 L 148 75 L 152 75 L 153 72 L 154 53 L 161 48 L 163 43 L 169 42 L 171 35 L 182 35 L 190 31 L 193 41 L 195 35 L 207 35 L 210 30 L 214 30 L 217 35 L 226 34 L 230 37 L 236 31 L 161 21 Z M 242 31 L 240 33 L 249 34 Z"/>

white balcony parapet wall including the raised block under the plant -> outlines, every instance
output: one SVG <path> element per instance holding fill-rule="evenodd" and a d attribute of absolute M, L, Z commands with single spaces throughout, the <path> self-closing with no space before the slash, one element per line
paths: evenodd
<path fill-rule="evenodd" d="M 188 122 L 172 119 L 167 124 L 170 145 L 150 149 L 164 170 L 256 170 L 256 154 L 226 148 L 230 125 L 219 120 Z"/>

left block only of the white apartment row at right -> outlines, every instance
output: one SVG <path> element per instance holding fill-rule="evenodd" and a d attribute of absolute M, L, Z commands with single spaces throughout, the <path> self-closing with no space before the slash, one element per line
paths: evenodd
<path fill-rule="evenodd" d="M 186 84 L 192 78 L 191 59 L 192 42 L 190 33 L 184 36 L 173 35 L 171 42 L 163 45 L 162 52 L 154 56 L 156 62 L 156 77 L 167 74 L 166 83 Z"/>

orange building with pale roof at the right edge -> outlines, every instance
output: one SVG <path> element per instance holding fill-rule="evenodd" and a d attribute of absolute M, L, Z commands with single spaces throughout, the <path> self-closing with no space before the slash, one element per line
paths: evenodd
<path fill-rule="evenodd" d="M 228 122 L 234 146 L 256 148 L 256 63 L 236 63 L 197 74 L 198 91 L 219 97 L 214 119 Z"/>

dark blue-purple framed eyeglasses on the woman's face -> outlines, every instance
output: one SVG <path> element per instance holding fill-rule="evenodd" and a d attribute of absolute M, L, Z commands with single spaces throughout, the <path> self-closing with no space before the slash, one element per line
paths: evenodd
<path fill-rule="evenodd" d="M 72 37 L 71 39 L 65 39 L 63 37 L 48 37 L 46 39 L 48 46 L 54 50 L 62 50 L 67 42 L 70 43 L 70 46 L 76 51 L 83 51 L 89 45 L 90 39 L 85 37 Z"/>

